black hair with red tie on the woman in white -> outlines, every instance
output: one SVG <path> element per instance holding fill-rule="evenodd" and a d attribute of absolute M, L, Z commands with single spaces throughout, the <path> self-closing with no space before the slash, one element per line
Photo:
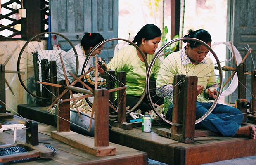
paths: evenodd
<path fill-rule="evenodd" d="M 104 41 L 104 38 L 100 33 L 85 33 L 81 40 L 81 45 L 84 50 L 90 49 L 90 47 L 95 47 L 100 42 Z"/>

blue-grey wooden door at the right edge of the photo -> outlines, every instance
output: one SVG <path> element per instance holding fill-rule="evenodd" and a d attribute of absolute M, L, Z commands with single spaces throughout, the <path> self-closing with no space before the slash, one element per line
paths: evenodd
<path fill-rule="evenodd" d="M 247 53 L 248 45 L 252 49 L 252 57 L 245 60 L 246 70 L 255 70 L 256 65 L 256 0 L 228 0 L 227 14 L 227 41 L 232 41 L 242 58 Z M 247 45 L 248 44 L 248 45 Z M 247 49 L 245 49 L 247 48 Z M 230 55 L 229 55 L 230 56 Z M 227 57 L 229 59 L 230 57 Z M 235 62 L 233 61 L 233 64 Z M 234 65 L 233 65 L 234 67 Z M 251 76 L 246 75 L 246 99 L 251 98 Z M 237 90 L 231 95 L 229 101 L 235 103 Z"/>

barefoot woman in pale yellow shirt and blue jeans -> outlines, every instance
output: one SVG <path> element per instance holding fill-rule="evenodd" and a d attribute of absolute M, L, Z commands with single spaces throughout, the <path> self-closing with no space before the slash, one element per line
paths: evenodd
<path fill-rule="evenodd" d="M 211 46 L 211 35 L 203 29 L 197 31 L 189 30 L 184 38 L 197 38 Z M 215 99 L 217 90 L 210 90 L 209 87 L 217 87 L 217 81 L 214 74 L 214 65 L 211 58 L 206 56 L 208 48 L 194 40 L 183 40 L 187 43 L 183 49 L 167 56 L 156 80 L 156 93 L 158 96 L 166 97 L 173 95 L 173 75 L 197 75 L 197 106 L 196 120 L 201 118 L 213 104 L 209 99 Z M 189 71 L 186 68 L 191 68 Z M 201 69 L 197 69 L 201 68 Z M 202 69 L 204 68 L 204 69 Z M 161 75 L 161 76 L 160 76 Z M 207 89 L 207 90 L 206 90 Z M 173 105 L 168 108 L 166 119 L 171 120 Z M 256 131 L 252 125 L 241 127 L 243 120 L 242 112 L 234 107 L 217 104 L 212 113 L 202 122 L 196 125 L 196 128 L 205 128 L 226 137 L 247 136 L 255 139 Z"/>

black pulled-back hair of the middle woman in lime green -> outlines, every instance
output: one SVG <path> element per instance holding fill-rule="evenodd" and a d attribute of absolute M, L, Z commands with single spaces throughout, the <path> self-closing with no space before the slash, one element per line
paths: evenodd
<path fill-rule="evenodd" d="M 152 40 L 156 37 L 160 37 L 161 35 L 161 30 L 156 25 L 146 24 L 134 37 L 133 43 L 140 46 L 142 38 L 145 38 L 145 40 Z"/>

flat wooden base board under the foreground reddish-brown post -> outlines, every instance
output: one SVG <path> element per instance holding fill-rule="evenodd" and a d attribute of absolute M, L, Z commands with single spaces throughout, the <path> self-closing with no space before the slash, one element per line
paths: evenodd
<path fill-rule="evenodd" d="M 94 139 L 83 136 L 73 131 L 69 131 L 69 132 L 52 131 L 51 137 L 59 141 L 62 141 L 63 143 L 66 143 L 70 146 L 78 148 L 82 151 L 90 153 L 94 156 L 109 156 L 109 155 L 116 154 L 116 148 L 112 146 L 95 147 Z"/>

